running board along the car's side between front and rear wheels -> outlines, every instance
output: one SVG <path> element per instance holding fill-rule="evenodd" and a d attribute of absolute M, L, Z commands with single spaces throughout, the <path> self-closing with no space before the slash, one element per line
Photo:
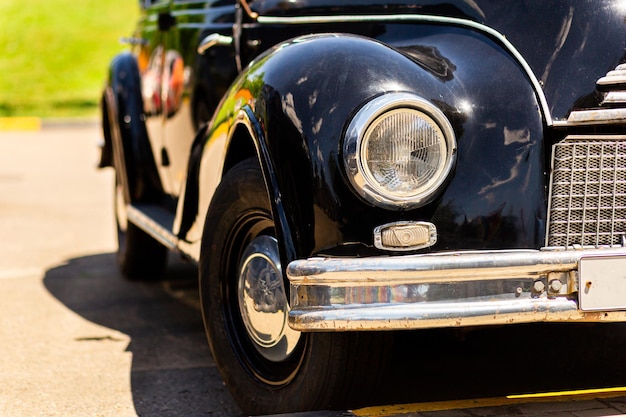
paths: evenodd
<path fill-rule="evenodd" d="M 126 206 L 128 221 L 152 236 L 170 250 L 178 251 L 180 239 L 172 233 L 174 215 L 152 204 L 129 204 Z"/>

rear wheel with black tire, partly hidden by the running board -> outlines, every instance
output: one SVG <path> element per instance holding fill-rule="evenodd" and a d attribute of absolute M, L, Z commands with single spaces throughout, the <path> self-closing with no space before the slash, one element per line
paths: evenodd
<path fill-rule="evenodd" d="M 115 223 L 117 224 L 117 264 L 130 281 L 157 281 L 163 277 L 168 250 L 146 232 L 128 221 L 120 173 L 115 173 Z"/>

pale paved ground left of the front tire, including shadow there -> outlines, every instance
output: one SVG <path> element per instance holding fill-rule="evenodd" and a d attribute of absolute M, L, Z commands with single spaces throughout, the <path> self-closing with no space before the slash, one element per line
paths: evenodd
<path fill-rule="evenodd" d="M 172 296 L 184 265 L 169 288 L 118 274 L 98 139 L 0 132 L 0 416 L 237 415 L 197 310 Z"/>

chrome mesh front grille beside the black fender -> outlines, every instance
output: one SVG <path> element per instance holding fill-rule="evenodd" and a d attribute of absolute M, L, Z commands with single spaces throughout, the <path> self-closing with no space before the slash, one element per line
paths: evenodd
<path fill-rule="evenodd" d="M 626 232 L 626 136 L 554 145 L 547 246 L 612 246 Z"/>

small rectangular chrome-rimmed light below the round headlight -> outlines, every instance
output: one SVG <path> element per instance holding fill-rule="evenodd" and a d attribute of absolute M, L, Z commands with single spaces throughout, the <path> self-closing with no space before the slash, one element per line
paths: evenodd
<path fill-rule="evenodd" d="M 426 248 L 437 242 L 437 228 L 427 222 L 396 222 L 374 229 L 378 249 L 407 251 Z"/>

